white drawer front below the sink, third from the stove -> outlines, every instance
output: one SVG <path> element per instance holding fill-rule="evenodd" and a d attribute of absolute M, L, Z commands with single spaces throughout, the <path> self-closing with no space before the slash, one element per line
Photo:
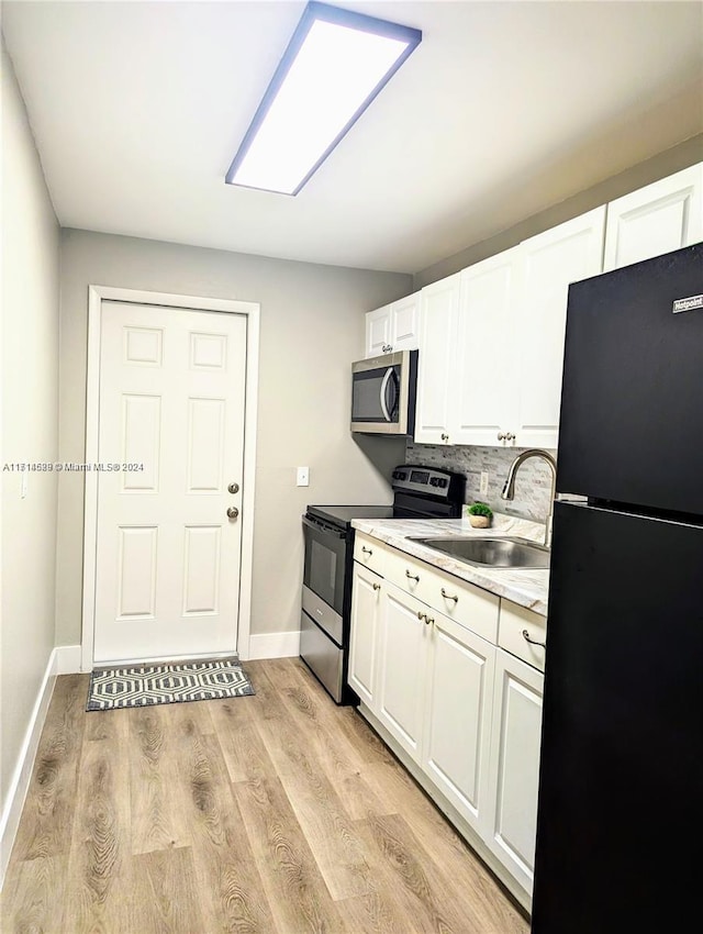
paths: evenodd
<path fill-rule="evenodd" d="M 498 641 L 500 599 L 494 593 L 438 568 L 426 568 L 421 599 L 487 642 L 495 644 Z"/>

